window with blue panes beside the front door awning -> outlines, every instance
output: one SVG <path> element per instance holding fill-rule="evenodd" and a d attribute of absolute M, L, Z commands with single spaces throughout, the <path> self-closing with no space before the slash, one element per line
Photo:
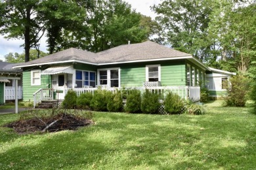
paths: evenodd
<path fill-rule="evenodd" d="M 95 88 L 95 72 L 93 71 L 75 71 L 75 84 L 77 88 L 91 86 Z"/>

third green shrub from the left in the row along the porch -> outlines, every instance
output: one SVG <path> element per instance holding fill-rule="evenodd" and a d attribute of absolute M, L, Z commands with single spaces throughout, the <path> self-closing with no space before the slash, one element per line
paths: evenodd
<path fill-rule="evenodd" d="M 98 89 L 95 90 L 93 99 L 91 100 L 90 106 L 93 110 L 107 111 L 108 100 L 111 99 L 111 92 L 107 90 Z"/>

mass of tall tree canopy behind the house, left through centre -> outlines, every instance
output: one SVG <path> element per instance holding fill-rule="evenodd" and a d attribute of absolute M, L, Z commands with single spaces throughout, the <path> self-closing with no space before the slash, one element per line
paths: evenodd
<path fill-rule="evenodd" d="M 142 42 L 152 34 L 150 18 L 131 10 L 121 0 L 21 0 L 0 1 L 0 33 L 9 39 L 24 39 L 25 61 L 30 48 L 39 50 L 47 37 L 49 53 L 70 47 L 99 52 Z"/>

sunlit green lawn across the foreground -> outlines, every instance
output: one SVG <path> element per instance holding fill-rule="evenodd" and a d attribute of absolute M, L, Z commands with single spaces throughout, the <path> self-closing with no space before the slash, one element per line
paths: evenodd
<path fill-rule="evenodd" d="M 95 112 L 78 131 L 17 135 L 0 127 L 0 169 L 255 169 L 251 107 L 205 104 L 207 114 Z M 0 115 L 0 125 L 18 118 Z"/>

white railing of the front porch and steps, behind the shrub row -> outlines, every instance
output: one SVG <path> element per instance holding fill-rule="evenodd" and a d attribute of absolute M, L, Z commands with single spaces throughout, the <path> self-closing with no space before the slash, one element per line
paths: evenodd
<path fill-rule="evenodd" d="M 160 94 L 161 99 L 165 99 L 165 96 L 169 92 L 178 94 L 182 99 L 190 99 L 191 101 L 200 101 L 200 87 L 196 86 L 156 86 L 156 87 L 129 87 L 129 88 L 108 88 L 106 86 L 101 87 L 104 90 L 108 90 L 112 93 L 116 93 L 119 90 L 121 93 L 127 93 L 129 89 L 137 89 L 140 92 L 144 92 L 146 89 L 150 92 Z M 79 96 L 81 93 L 95 93 L 98 88 L 67 88 L 63 90 L 56 90 L 53 88 L 40 88 L 37 92 L 33 93 L 33 107 L 35 107 L 41 101 L 53 101 L 63 100 L 68 90 L 74 90 Z"/>

